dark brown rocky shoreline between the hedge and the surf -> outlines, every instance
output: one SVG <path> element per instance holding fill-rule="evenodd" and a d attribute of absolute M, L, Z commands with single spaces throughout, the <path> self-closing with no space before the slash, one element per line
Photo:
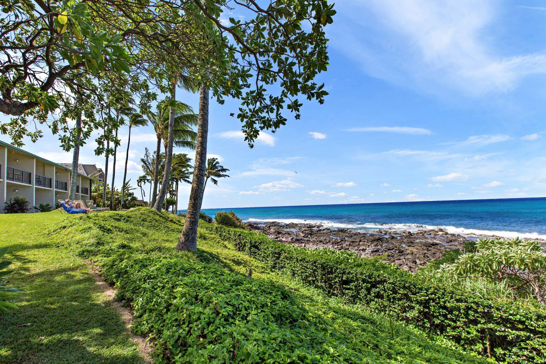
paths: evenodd
<path fill-rule="evenodd" d="M 450 234 L 442 229 L 355 231 L 329 229 L 322 224 L 249 222 L 246 225 L 285 244 L 307 248 L 350 250 L 361 256 L 385 255 L 384 261 L 414 272 L 429 260 L 441 258 L 446 250 L 462 248 L 480 235 Z"/>

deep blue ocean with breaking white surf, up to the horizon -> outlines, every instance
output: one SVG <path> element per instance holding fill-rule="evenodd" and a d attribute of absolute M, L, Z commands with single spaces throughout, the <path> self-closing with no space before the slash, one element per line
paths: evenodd
<path fill-rule="evenodd" d="M 442 228 L 453 234 L 546 240 L 546 197 L 204 208 L 202 211 L 214 217 L 218 211 L 229 210 L 245 222 L 321 223 L 328 228 L 359 231 Z"/>

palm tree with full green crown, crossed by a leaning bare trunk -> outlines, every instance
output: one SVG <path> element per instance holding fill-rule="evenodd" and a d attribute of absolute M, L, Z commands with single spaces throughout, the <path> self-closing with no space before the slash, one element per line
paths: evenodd
<path fill-rule="evenodd" d="M 158 103 L 155 113 L 146 115 L 157 135 L 156 156 L 162 154 L 162 140 L 165 152 L 168 150 L 170 106 L 169 99 L 162 100 Z M 173 111 L 173 145 L 194 149 L 196 133 L 192 130 L 192 126 L 197 125 L 197 115 L 193 113 L 193 109 L 189 105 L 179 101 L 174 102 Z M 159 176 L 159 164 L 155 164 L 152 174 L 153 190 L 150 206 L 156 205 Z"/>

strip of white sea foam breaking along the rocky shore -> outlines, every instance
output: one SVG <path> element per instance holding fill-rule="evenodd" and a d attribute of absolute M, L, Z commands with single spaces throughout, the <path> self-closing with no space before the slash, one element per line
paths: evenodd
<path fill-rule="evenodd" d="M 486 235 L 486 236 L 502 236 L 508 238 L 521 237 L 529 239 L 543 239 L 546 240 L 546 235 L 538 234 L 538 232 L 517 232 L 517 231 L 504 231 L 504 230 L 479 230 L 468 228 L 457 228 L 456 226 L 433 226 L 422 224 L 389 224 L 389 223 L 360 223 L 360 222 L 347 222 L 339 223 L 328 220 L 304 220 L 304 219 L 248 219 L 248 222 L 272 222 L 277 221 L 280 223 L 296 223 L 296 224 L 322 224 L 325 228 L 332 229 L 353 229 L 353 230 L 377 230 L 377 229 L 393 229 L 397 231 L 408 230 L 437 230 L 443 229 L 451 234 L 461 235 Z"/>

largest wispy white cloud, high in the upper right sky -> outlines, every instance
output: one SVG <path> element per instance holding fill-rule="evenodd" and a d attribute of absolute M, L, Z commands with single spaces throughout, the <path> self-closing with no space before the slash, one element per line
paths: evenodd
<path fill-rule="evenodd" d="M 336 6 L 345 19 L 334 29 L 334 46 L 371 76 L 480 96 L 507 92 L 524 77 L 546 72 L 544 53 L 503 55 L 494 47 L 494 21 L 505 13 L 499 2 L 347 0 Z M 366 31 L 351 32 L 357 27 Z"/>

